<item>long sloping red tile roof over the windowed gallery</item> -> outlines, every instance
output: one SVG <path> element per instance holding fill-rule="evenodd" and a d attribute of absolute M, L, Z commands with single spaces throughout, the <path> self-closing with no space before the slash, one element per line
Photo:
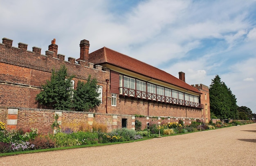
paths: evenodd
<path fill-rule="evenodd" d="M 137 74 L 148 76 L 159 81 L 182 87 L 186 90 L 201 93 L 195 87 L 177 79 L 175 76 L 164 72 L 156 67 L 148 65 L 130 56 L 121 54 L 107 47 L 103 47 L 89 54 L 89 62 L 96 65 L 110 64 Z"/>

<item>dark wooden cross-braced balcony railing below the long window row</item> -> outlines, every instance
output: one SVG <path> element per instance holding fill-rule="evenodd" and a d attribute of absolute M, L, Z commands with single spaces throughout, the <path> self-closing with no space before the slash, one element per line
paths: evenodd
<path fill-rule="evenodd" d="M 203 108 L 203 104 L 200 104 L 200 103 L 194 103 L 194 102 L 185 101 L 182 99 L 175 99 L 172 97 L 162 96 L 159 94 L 153 94 L 153 93 L 149 93 L 149 92 L 143 92 L 140 90 L 133 90 L 133 89 L 129 89 L 126 87 L 119 87 L 119 92 L 120 92 L 120 94 L 122 94 L 124 96 L 132 96 L 132 97 L 137 97 L 137 98 L 141 98 L 141 99 L 161 101 L 164 103 L 173 103 L 173 104 L 184 105 L 184 106 L 189 106 L 189 107 Z"/>

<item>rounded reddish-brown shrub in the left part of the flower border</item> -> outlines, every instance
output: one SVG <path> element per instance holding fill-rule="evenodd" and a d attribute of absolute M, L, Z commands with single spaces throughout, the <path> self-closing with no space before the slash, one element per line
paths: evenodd
<path fill-rule="evenodd" d="M 47 149 L 54 148 L 56 141 L 48 136 L 40 135 L 33 140 L 30 140 L 31 144 L 35 145 L 35 149 Z"/>

